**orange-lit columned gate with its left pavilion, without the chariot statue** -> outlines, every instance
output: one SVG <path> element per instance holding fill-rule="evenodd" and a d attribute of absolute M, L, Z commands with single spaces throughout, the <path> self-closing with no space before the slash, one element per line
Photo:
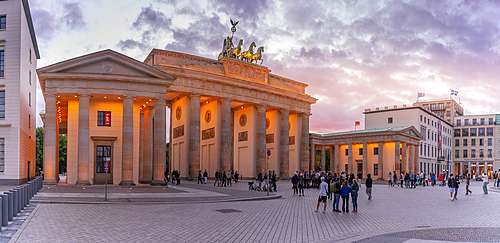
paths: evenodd
<path fill-rule="evenodd" d="M 159 184 L 217 169 L 283 178 L 309 167 L 306 84 L 267 67 L 154 49 L 144 62 L 111 50 L 37 70 L 45 98 L 45 183 L 56 183 L 58 135 L 67 134 L 68 184 Z M 167 109 L 167 107 L 169 109 Z"/>

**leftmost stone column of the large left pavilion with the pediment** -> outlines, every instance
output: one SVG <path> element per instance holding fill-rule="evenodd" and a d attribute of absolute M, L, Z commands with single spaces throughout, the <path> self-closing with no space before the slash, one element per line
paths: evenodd
<path fill-rule="evenodd" d="M 56 136 L 57 136 L 56 94 L 45 95 L 45 125 L 43 136 L 44 184 L 57 184 Z"/>

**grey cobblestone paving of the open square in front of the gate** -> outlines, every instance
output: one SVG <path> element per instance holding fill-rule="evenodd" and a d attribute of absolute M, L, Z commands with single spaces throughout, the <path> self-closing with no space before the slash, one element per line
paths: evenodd
<path fill-rule="evenodd" d="M 245 184 L 233 189 L 245 193 Z M 192 183 L 184 186 L 213 188 Z M 483 195 L 479 182 L 473 182 L 470 196 L 465 196 L 461 187 L 459 200 L 453 202 L 447 187 L 403 189 L 386 185 L 374 185 L 373 199 L 368 201 L 363 185 L 359 213 L 333 213 L 332 201 L 328 201 L 327 214 L 314 213 L 318 190 L 306 189 L 306 197 L 297 197 L 292 195 L 289 182 L 280 182 L 278 189 L 283 198 L 266 201 L 41 204 L 12 242 L 355 242 L 423 227 L 500 225 L 500 194 Z M 427 234 L 421 232 L 412 237 Z M 474 237 L 476 233 L 470 234 Z M 409 239 L 405 237 L 392 239 Z M 395 242 L 403 242 L 400 240 Z"/>

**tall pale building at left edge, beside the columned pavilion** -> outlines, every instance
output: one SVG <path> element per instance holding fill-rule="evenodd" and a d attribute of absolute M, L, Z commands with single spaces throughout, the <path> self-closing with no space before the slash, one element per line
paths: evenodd
<path fill-rule="evenodd" d="M 39 58 L 28 1 L 0 1 L 0 184 L 35 175 Z"/>

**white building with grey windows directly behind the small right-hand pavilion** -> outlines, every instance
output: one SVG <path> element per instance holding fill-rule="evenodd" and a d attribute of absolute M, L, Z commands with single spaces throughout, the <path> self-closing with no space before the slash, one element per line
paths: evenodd
<path fill-rule="evenodd" d="M 452 124 L 430 111 L 416 106 L 393 106 L 365 109 L 365 129 L 414 126 L 422 135 L 417 171 L 442 173 L 454 171 L 452 158 Z M 396 168 L 397 170 L 397 168 Z"/>

